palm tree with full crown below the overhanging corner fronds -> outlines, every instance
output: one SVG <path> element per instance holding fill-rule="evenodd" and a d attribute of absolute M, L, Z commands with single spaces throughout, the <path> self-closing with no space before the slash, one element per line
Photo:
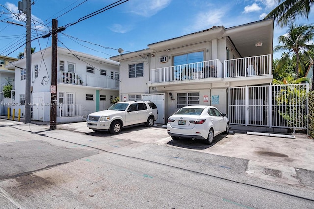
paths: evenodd
<path fill-rule="evenodd" d="M 278 61 L 277 65 L 280 67 L 282 62 L 285 62 L 288 58 L 290 58 L 290 53 L 293 52 L 296 56 L 296 67 L 295 73 L 297 74 L 297 78 L 299 77 L 299 72 L 304 71 L 303 61 L 300 59 L 300 52 L 304 52 L 304 55 L 307 56 L 312 62 L 312 58 L 307 52 L 311 48 L 314 47 L 314 44 L 310 44 L 314 38 L 314 26 L 312 24 L 305 25 L 296 25 L 290 24 L 287 30 L 286 35 L 279 36 L 279 44 L 283 43 L 283 45 L 274 46 L 274 53 L 279 51 L 287 51 Z M 276 66 L 277 67 L 277 66 Z"/>

